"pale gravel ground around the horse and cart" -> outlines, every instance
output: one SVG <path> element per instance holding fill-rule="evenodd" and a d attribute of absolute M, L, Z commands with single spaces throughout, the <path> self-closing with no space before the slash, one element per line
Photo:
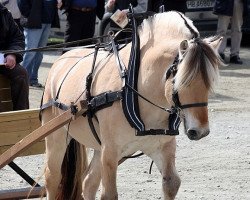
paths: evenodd
<path fill-rule="evenodd" d="M 176 168 L 182 184 L 177 200 L 250 199 L 250 49 L 243 48 L 244 65 L 220 68 L 220 80 L 209 98 L 211 133 L 200 141 L 177 136 Z M 56 55 L 46 55 L 39 71 L 44 83 Z M 31 107 L 38 107 L 42 91 L 31 89 Z M 43 174 L 43 156 L 17 158 L 32 177 Z M 118 170 L 119 199 L 163 199 L 161 177 L 145 156 L 124 162 Z M 43 177 L 42 177 L 43 179 Z M 43 180 L 39 181 L 43 183 Z M 28 185 L 6 166 L 0 170 L 0 189 Z"/>

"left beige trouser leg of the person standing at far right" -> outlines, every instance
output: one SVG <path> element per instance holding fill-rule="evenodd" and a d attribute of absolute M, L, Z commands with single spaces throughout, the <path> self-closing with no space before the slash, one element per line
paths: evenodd
<path fill-rule="evenodd" d="M 219 54 L 224 54 L 227 46 L 227 29 L 230 22 L 230 17 L 225 15 L 218 15 L 217 34 L 223 37 L 219 47 Z"/>

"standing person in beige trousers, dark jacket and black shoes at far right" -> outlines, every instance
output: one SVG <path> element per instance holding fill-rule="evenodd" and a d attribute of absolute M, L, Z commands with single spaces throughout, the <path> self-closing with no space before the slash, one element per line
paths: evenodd
<path fill-rule="evenodd" d="M 242 38 L 241 27 L 243 24 L 243 14 L 247 15 L 246 0 L 216 0 L 213 13 L 218 15 L 217 34 L 223 36 L 219 54 L 225 60 L 224 51 L 227 46 L 227 29 L 231 21 L 231 48 L 230 63 L 242 64 L 239 57 L 240 44 Z"/>

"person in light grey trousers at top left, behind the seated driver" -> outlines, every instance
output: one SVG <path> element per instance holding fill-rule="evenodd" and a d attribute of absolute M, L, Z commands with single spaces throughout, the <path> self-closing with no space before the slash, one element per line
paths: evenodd
<path fill-rule="evenodd" d="M 20 28 L 21 31 L 23 31 L 23 27 L 20 23 L 21 12 L 18 8 L 17 0 L 0 0 L 0 3 L 2 3 L 3 6 L 6 7 L 10 11 L 18 27 Z"/>

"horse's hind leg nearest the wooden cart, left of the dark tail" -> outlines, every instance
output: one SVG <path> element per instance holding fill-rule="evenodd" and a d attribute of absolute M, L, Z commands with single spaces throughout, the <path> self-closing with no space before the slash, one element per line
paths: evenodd
<path fill-rule="evenodd" d="M 61 165 L 66 152 L 66 134 L 61 129 L 46 138 L 45 187 L 47 199 L 56 199 L 61 181 Z"/>

